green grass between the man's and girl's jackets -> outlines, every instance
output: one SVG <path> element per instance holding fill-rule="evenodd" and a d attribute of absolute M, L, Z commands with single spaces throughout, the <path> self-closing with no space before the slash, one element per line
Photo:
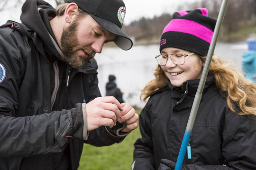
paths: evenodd
<path fill-rule="evenodd" d="M 136 110 L 140 113 L 140 110 Z M 96 147 L 84 144 L 78 170 L 130 170 L 134 143 L 141 137 L 139 127 L 121 143 Z"/>

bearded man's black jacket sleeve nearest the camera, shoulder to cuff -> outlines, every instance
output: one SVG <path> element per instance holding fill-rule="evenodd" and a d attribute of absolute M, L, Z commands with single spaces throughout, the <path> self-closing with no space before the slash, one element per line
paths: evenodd
<path fill-rule="evenodd" d="M 25 71 L 21 56 L 26 57 L 18 46 L 22 43 L 17 43 L 13 34 L 1 29 L 0 63 L 6 76 L 0 83 L 0 158 L 60 152 L 67 144 L 66 136 L 72 135 L 66 110 L 16 117 L 19 85 Z"/>

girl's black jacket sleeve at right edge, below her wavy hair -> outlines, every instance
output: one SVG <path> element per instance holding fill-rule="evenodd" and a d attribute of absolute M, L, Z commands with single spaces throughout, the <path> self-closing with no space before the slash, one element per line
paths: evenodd
<path fill-rule="evenodd" d="M 185 170 L 256 170 L 256 117 L 232 114 L 223 129 L 222 155 L 224 164 L 184 165 Z"/>

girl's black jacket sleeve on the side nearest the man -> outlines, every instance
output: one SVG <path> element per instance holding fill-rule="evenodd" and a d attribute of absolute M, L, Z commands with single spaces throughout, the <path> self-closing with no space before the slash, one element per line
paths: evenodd
<path fill-rule="evenodd" d="M 154 144 L 152 141 L 151 127 L 151 104 L 150 99 L 139 115 L 139 128 L 141 138 L 134 144 L 134 161 L 131 170 L 155 170 Z"/>

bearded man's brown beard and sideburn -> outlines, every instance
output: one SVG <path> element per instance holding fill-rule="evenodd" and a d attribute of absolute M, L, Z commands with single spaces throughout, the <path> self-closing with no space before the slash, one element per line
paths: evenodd
<path fill-rule="evenodd" d="M 96 52 L 91 50 L 89 46 L 79 46 L 77 39 L 78 20 L 79 18 L 76 18 L 70 26 L 64 28 L 61 36 L 62 59 L 73 68 L 82 67 L 96 54 Z M 83 56 L 76 54 L 79 50 L 87 51 L 88 57 L 84 58 Z"/>

